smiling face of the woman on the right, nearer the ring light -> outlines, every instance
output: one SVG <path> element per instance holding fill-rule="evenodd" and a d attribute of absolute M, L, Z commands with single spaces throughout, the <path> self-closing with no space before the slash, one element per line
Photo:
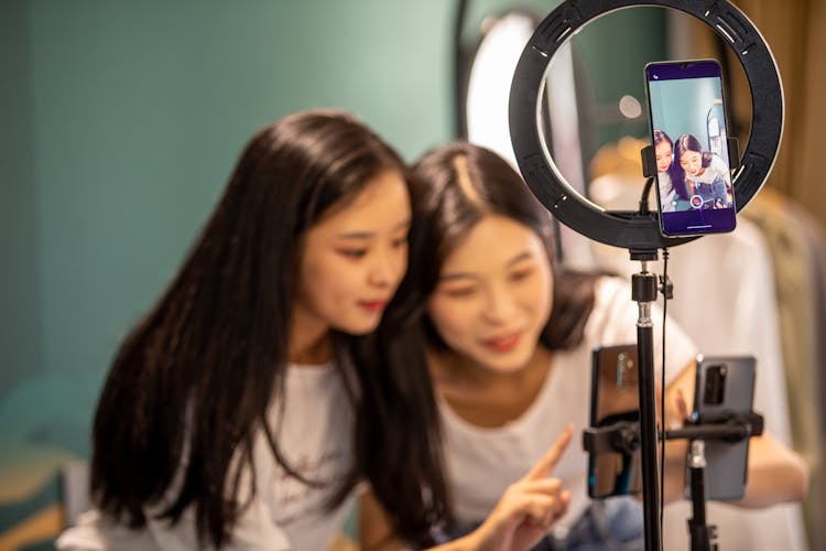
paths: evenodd
<path fill-rule="evenodd" d="M 511 218 L 489 215 L 445 259 L 428 313 L 455 353 L 485 369 L 513 372 L 536 349 L 552 284 L 542 239 Z"/>

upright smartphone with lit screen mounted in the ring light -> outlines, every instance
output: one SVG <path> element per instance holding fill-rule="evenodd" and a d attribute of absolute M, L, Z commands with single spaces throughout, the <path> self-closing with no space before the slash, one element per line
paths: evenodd
<path fill-rule="evenodd" d="M 731 231 L 737 210 L 720 64 L 649 63 L 645 83 L 660 231 L 669 237 Z"/>

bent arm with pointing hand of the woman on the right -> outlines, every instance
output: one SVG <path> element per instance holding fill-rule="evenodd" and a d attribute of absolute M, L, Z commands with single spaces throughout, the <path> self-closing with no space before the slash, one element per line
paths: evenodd
<path fill-rule="evenodd" d="M 568 426 L 520 480 L 511 484 L 482 525 L 469 534 L 433 548 L 433 551 L 517 551 L 530 549 L 570 503 L 570 493 L 548 475 L 570 442 Z M 381 505 L 368 493 L 361 497 L 359 539 L 365 551 L 398 551 L 406 549 L 395 539 Z"/>

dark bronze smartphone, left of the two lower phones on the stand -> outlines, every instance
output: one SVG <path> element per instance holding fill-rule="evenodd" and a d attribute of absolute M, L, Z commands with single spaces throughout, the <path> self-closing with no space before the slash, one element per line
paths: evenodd
<path fill-rule="evenodd" d="M 590 425 L 640 421 L 637 344 L 601 346 L 591 353 Z M 639 441 L 639 437 L 638 437 Z M 591 498 L 642 491 L 639 446 L 632 453 L 606 452 L 588 455 L 588 495 Z"/>

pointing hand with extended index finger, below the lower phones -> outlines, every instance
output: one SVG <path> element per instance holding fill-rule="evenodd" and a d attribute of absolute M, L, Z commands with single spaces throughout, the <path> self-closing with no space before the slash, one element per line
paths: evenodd
<path fill-rule="evenodd" d="M 465 538 L 470 549 L 530 549 L 565 514 L 570 491 L 563 490 L 562 482 L 548 475 L 570 442 L 572 432 L 568 425 L 531 472 L 508 487 L 485 522 Z"/>

